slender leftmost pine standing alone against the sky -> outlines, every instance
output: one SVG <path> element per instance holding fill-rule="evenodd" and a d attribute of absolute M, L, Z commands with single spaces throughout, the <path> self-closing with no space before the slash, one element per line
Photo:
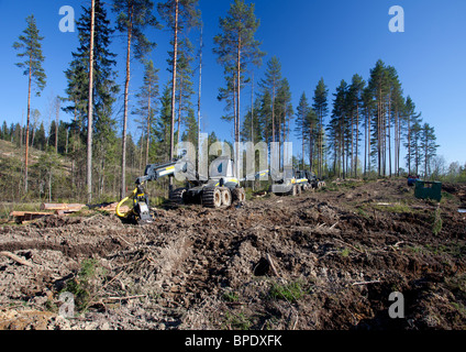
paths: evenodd
<path fill-rule="evenodd" d="M 25 150 L 25 162 L 24 162 L 24 190 L 27 193 L 27 164 L 29 164 L 29 133 L 30 133 L 30 118 L 31 118 L 31 89 L 34 85 L 36 96 L 41 96 L 46 85 L 46 75 L 42 63 L 44 56 L 42 55 L 42 44 L 44 40 L 40 36 L 37 24 L 33 14 L 26 18 L 27 28 L 20 35 L 19 42 L 14 42 L 13 47 L 20 51 L 16 56 L 24 57 L 25 61 L 18 63 L 16 66 L 23 69 L 23 75 L 29 77 L 27 85 L 27 122 L 26 122 L 26 150 Z"/>

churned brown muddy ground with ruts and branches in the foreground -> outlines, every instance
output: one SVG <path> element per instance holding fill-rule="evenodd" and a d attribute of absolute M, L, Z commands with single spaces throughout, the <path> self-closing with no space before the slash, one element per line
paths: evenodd
<path fill-rule="evenodd" d="M 465 329 L 465 190 L 444 185 L 440 210 L 399 179 L 166 207 L 143 227 L 3 226 L 0 252 L 27 265 L 0 255 L 0 329 Z"/>

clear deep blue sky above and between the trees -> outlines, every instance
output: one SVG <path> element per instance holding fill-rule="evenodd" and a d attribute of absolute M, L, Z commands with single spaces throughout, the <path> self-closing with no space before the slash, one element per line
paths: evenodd
<path fill-rule="evenodd" d="M 25 123 L 27 78 L 14 66 L 18 58 L 12 48 L 25 29 L 25 18 L 33 13 L 41 34 L 45 36 L 43 53 L 47 87 L 42 97 L 32 98 L 32 108 L 38 109 L 47 122 L 49 100 L 64 95 L 64 70 L 71 61 L 71 51 L 78 45 L 77 32 L 59 31 L 62 16 L 58 10 L 71 6 L 78 19 L 82 13 L 80 6 L 89 3 L 89 0 L 0 0 L 0 122 L 21 122 L 24 112 Z M 255 69 L 256 79 L 262 77 L 265 63 L 273 55 L 278 56 L 296 107 L 303 91 L 308 98 L 312 97 L 321 77 L 329 86 L 332 99 L 342 79 L 351 81 L 357 73 L 367 80 L 370 68 L 381 58 L 396 67 L 404 95 L 412 97 L 424 121 L 435 128 L 441 144 L 439 154 L 448 163 L 466 163 L 466 1 L 257 0 L 255 3 L 256 15 L 260 19 L 256 38 L 263 42 L 262 50 L 267 53 L 264 65 Z M 217 101 L 217 96 L 219 87 L 224 85 L 223 69 L 212 54 L 212 38 L 219 33 L 219 18 L 225 15 L 229 6 L 229 0 L 200 0 L 206 45 L 202 130 L 215 131 L 222 139 L 231 138 L 232 125 L 220 120 L 223 103 Z M 391 19 L 388 11 L 392 6 L 404 9 L 404 33 L 391 33 L 388 29 Z M 113 20 L 114 15 L 111 18 Z M 166 70 L 169 35 L 166 31 L 154 31 L 149 37 L 158 44 L 153 59 L 160 68 L 163 86 L 169 79 Z M 119 84 L 123 86 L 124 41 L 116 34 L 112 50 L 119 54 Z M 135 92 L 141 86 L 142 67 L 137 62 L 132 65 L 130 89 Z M 251 105 L 249 87 L 243 90 L 242 102 L 246 111 Z M 120 98 L 115 110 L 121 107 Z M 69 120 L 70 117 L 62 112 L 60 118 Z M 121 120 L 121 113 L 118 119 Z M 130 122 L 130 129 L 135 131 L 134 120 Z M 295 151 L 299 150 L 296 144 Z"/>

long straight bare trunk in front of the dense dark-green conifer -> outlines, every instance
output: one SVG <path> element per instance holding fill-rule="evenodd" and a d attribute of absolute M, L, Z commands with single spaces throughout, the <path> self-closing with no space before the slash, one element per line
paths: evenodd
<path fill-rule="evenodd" d="M 96 19 L 96 0 L 91 3 L 90 45 L 89 45 L 89 95 L 88 95 L 88 138 L 87 138 L 87 194 L 88 204 L 92 202 L 92 96 L 93 96 L 93 31 Z"/>

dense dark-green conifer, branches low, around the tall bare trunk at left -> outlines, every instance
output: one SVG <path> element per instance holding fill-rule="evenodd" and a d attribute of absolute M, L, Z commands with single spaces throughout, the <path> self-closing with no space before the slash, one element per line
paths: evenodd
<path fill-rule="evenodd" d="M 82 8 L 82 15 L 77 21 L 77 30 L 79 37 L 79 46 L 76 52 L 71 53 L 73 62 L 69 68 L 65 72 L 68 80 L 68 87 L 66 89 L 67 98 L 66 101 L 69 105 L 65 106 L 63 110 L 67 113 L 71 113 L 74 121 L 71 124 L 71 140 L 73 140 L 73 164 L 71 164 L 71 180 L 73 185 L 82 186 L 82 167 L 77 165 L 82 164 L 84 153 L 80 150 L 80 144 L 86 143 L 88 145 L 87 166 L 91 167 L 92 164 L 92 148 L 99 146 L 100 155 L 110 156 L 104 152 L 106 148 L 110 148 L 110 142 L 113 140 L 115 120 L 113 116 L 113 103 L 115 97 L 120 91 L 119 86 L 115 82 L 116 72 L 114 61 L 115 54 L 111 53 L 109 47 L 111 45 L 111 36 L 114 31 L 110 26 L 110 21 L 107 16 L 107 11 L 102 7 L 101 0 L 95 0 L 95 21 L 93 21 L 93 36 L 91 36 L 91 23 L 92 23 L 92 7 Z M 93 50 L 92 50 L 92 99 L 89 99 L 89 86 L 90 86 L 90 70 L 89 70 L 89 57 L 90 57 L 90 38 L 93 37 Z M 89 105 L 91 102 L 91 105 Z M 89 109 L 89 107 L 91 109 Z M 89 112 L 92 111 L 91 119 L 89 120 Z M 91 122 L 91 123 L 89 123 Z M 88 129 L 86 130 L 86 125 Z M 90 128 L 90 129 L 89 129 Z M 109 135 L 110 133 L 110 135 Z M 96 143 L 92 142 L 93 135 L 96 135 Z M 107 138 L 108 136 L 108 138 Z M 91 141 L 89 141 L 91 140 Z M 99 158 L 100 161 L 100 158 Z M 101 167 L 99 168 L 102 169 Z M 75 173 L 81 173 L 75 175 Z M 88 186 L 92 186 L 92 173 L 87 169 Z M 89 183 L 90 180 L 90 183 Z M 91 197 L 92 188 L 88 188 L 88 201 Z"/>

